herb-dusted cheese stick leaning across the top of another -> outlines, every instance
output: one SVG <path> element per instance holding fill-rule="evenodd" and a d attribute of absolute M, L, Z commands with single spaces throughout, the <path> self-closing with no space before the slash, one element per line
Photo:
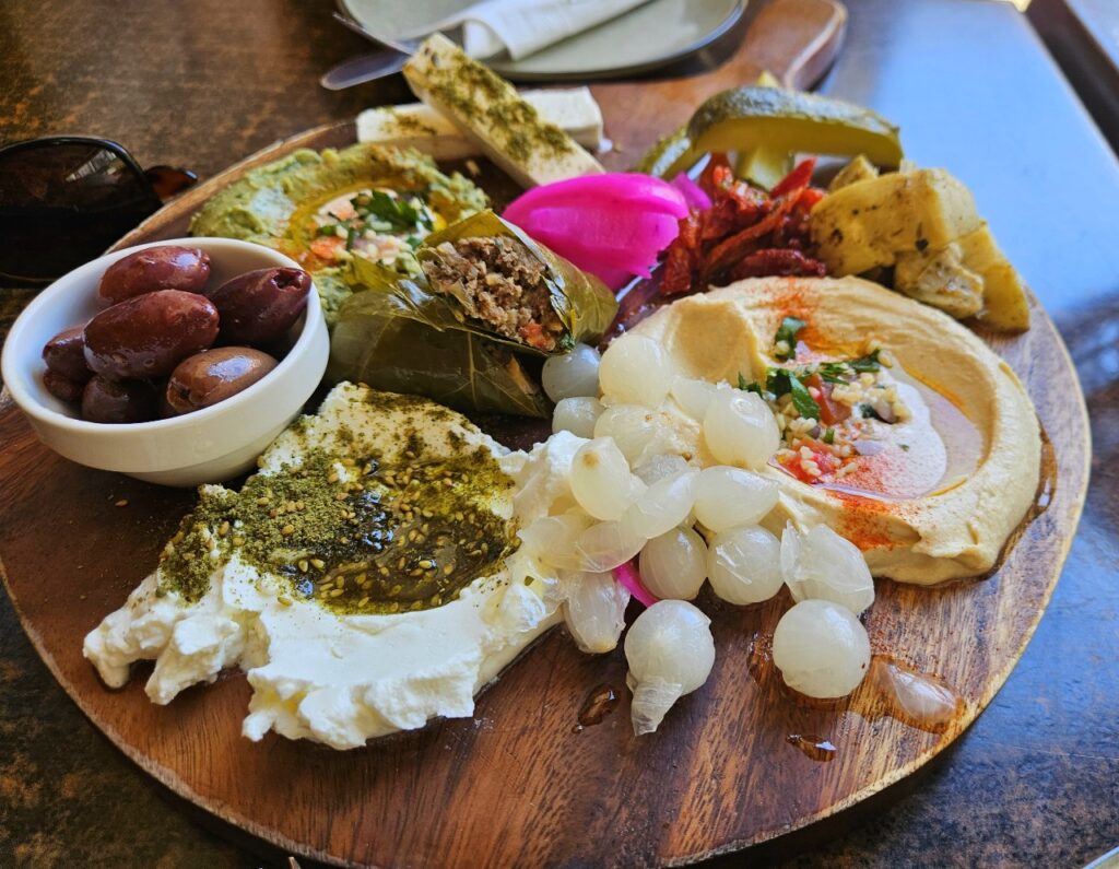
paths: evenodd
<path fill-rule="evenodd" d="M 424 40 L 404 66 L 413 93 L 525 187 L 605 171 L 517 90 L 442 34 Z"/>

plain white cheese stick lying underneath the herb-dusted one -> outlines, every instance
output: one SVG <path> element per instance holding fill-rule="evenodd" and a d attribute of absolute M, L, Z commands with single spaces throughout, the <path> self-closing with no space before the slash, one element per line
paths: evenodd
<path fill-rule="evenodd" d="M 546 122 L 596 151 L 602 144 L 602 111 L 589 87 L 521 91 L 521 97 Z M 417 148 L 436 160 L 477 157 L 481 148 L 451 121 L 424 103 L 366 109 L 357 116 L 357 140 L 394 148 Z"/>

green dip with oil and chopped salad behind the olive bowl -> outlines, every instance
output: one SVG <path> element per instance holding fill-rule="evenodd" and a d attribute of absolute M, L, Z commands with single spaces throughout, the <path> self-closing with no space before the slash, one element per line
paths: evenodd
<path fill-rule="evenodd" d="M 350 295 L 352 256 L 417 274 L 412 251 L 420 241 L 486 206 L 486 194 L 470 180 L 443 175 L 419 151 L 374 144 L 301 149 L 216 194 L 194 216 L 190 232 L 288 254 L 313 274 L 333 325 Z"/>

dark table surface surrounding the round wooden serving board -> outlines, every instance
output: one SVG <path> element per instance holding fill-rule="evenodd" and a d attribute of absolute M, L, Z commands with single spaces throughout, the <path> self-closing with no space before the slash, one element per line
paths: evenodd
<path fill-rule="evenodd" d="M 847 46 L 824 88 L 900 122 L 911 157 L 975 190 L 1076 361 L 1093 483 L 1049 611 L 975 726 L 869 803 L 723 862 L 1082 866 L 1119 845 L 1119 165 L 1010 6 L 848 6 Z M 143 163 L 209 175 L 283 136 L 405 100 L 398 77 L 318 86 L 328 67 L 367 50 L 330 8 L 3 0 L 0 142 L 107 136 Z M 27 298 L 0 290 L 0 328 Z M 125 760 L 54 683 L 0 595 L 0 866 L 280 862 Z"/>

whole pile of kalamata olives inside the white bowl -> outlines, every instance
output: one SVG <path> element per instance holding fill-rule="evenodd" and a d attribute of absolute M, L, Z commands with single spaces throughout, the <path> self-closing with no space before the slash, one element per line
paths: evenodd
<path fill-rule="evenodd" d="M 197 247 L 148 247 L 117 260 L 97 287 L 105 309 L 43 348 L 43 385 L 79 402 L 90 422 L 147 422 L 256 383 L 279 364 L 311 277 L 260 269 L 207 289 L 209 277 L 209 256 Z"/>

